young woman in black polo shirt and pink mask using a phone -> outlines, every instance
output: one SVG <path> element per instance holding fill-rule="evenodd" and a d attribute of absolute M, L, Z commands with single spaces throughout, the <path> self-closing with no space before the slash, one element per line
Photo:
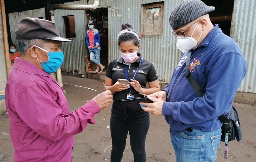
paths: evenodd
<path fill-rule="evenodd" d="M 139 34 L 130 24 L 122 25 L 117 42 L 121 57 L 108 64 L 105 76 L 106 88 L 112 92 L 114 100 L 110 119 L 111 162 L 121 162 L 128 132 L 134 161 L 146 162 L 145 139 L 150 126 L 149 114 L 142 109 L 131 110 L 117 101 L 139 97 L 139 92 L 146 95 L 158 92 L 160 85 L 152 63 L 138 53 Z M 127 79 L 130 85 L 119 83 L 117 79 Z M 149 88 L 146 89 L 147 82 Z"/>

